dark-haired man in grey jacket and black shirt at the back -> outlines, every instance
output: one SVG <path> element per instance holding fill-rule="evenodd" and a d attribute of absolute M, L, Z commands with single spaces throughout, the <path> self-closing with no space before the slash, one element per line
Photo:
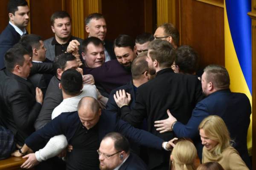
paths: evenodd
<path fill-rule="evenodd" d="M 72 40 L 78 40 L 81 44 L 82 39 L 78 37 L 73 37 L 71 35 L 71 18 L 70 15 L 65 11 L 55 12 L 51 16 L 51 28 L 52 32 L 55 34 L 47 40 L 44 40 L 44 46 L 47 49 L 46 57 L 53 61 L 55 56 L 58 56 L 67 51 L 67 46 Z M 79 46 L 79 55 L 81 57 L 81 47 Z"/>

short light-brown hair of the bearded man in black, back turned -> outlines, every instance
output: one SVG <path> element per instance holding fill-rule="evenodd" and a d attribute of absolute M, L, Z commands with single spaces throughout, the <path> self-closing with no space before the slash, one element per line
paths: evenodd
<path fill-rule="evenodd" d="M 175 49 L 166 40 L 154 40 L 148 45 L 148 54 L 152 61 L 157 60 L 159 66 L 170 67 L 174 61 Z"/>

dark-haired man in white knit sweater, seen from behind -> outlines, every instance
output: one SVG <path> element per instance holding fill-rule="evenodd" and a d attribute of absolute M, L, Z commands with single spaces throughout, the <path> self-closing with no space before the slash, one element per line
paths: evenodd
<path fill-rule="evenodd" d="M 83 84 L 81 74 L 75 69 L 67 69 L 63 72 L 59 87 L 62 90 L 63 101 L 53 110 L 52 119 L 62 112 L 77 111 L 79 101 L 85 96 L 90 96 L 97 100 L 96 86 Z M 57 156 L 62 150 L 66 149 L 67 144 L 67 138 L 64 135 L 54 136 L 43 149 L 36 151 L 34 154 L 29 154 L 29 158 L 23 165 L 31 163 L 36 165 L 41 161 Z"/>

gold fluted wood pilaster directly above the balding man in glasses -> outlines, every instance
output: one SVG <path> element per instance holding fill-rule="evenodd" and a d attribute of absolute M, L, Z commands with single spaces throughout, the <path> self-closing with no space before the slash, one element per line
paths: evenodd
<path fill-rule="evenodd" d="M 157 26 L 163 23 L 176 26 L 175 12 L 175 0 L 157 0 Z"/>

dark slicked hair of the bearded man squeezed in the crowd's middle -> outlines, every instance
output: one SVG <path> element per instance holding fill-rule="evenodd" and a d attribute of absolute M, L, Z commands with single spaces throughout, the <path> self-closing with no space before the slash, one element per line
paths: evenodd
<path fill-rule="evenodd" d="M 114 48 L 115 47 L 129 47 L 130 49 L 134 50 L 135 40 L 133 37 L 125 34 L 120 34 L 114 40 Z"/>

